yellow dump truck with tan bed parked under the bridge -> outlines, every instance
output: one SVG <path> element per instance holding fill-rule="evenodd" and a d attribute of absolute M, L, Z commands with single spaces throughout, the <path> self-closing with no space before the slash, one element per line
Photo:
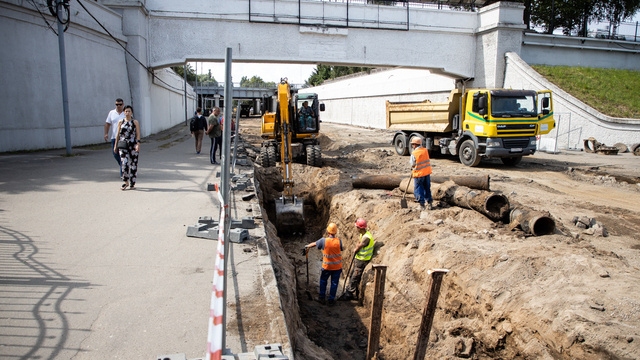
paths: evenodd
<path fill-rule="evenodd" d="M 555 128 L 549 90 L 454 89 L 445 103 L 386 105 L 387 128 L 397 130 L 398 155 L 408 155 L 417 136 L 430 152 L 458 155 L 467 166 L 477 166 L 482 158 L 515 166 L 535 153 L 536 135 Z"/>

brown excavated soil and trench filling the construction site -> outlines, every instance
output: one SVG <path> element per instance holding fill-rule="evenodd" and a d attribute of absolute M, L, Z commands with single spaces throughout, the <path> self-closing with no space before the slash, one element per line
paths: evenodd
<path fill-rule="evenodd" d="M 259 153 L 260 119 L 242 119 L 241 134 Z M 354 189 L 363 175 L 410 174 L 395 154 L 393 132 L 322 124 L 322 167 L 293 165 L 294 193 L 304 198 L 303 234 L 278 237 L 274 198 L 282 191 L 280 163 L 255 166 L 269 250 L 296 359 L 364 359 L 371 317 L 373 270 L 364 299 L 329 307 L 305 295 L 304 245 L 338 225 L 343 273 L 365 218 L 375 239 L 371 263 L 387 265 L 377 359 L 413 358 L 430 284 L 427 271 L 448 269 L 429 339 L 429 359 L 640 359 L 640 186 L 626 166 L 537 158 L 517 167 L 499 160 L 466 167 L 432 155 L 433 175 L 489 175 L 491 191 L 548 211 L 553 234 L 527 235 L 508 221 L 435 201 L 420 211 L 402 190 Z M 253 152 L 251 151 L 253 149 Z M 253 154 L 252 154 L 253 153 Z M 593 154 L 592 156 L 596 156 Z M 604 155 L 602 155 L 604 156 Z M 640 163 L 640 157 L 623 156 Z M 623 180 L 621 180 L 623 179 Z M 434 186 L 437 184 L 434 184 Z M 608 236 L 589 235 L 574 217 L 594 218 Z M 321 251 L 309 253 L 309 290 L 318 293 Z"/>

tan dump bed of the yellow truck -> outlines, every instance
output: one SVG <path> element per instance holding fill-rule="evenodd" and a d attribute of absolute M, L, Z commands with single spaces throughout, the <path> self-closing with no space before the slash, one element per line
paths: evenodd
<path fill-rule="evenodd" d="M 462 91 L 454 89 L 446 103 L 387 101 L 387 129 L 450 132 L 453 116 L 459 113 L 461 96 Z"/>

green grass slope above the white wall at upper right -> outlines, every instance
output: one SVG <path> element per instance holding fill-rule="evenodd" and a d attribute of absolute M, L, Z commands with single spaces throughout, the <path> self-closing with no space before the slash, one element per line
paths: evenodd
<path fill-rule="evenodd" d="M 640 119 L 640 71 L 532 66 L 562 90 L 601 113 Z"/>

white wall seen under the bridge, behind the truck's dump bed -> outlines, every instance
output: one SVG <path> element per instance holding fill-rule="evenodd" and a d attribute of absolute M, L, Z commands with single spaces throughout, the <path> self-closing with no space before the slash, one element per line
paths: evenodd
<path fill-rule="evenodd" d="M 454 86 L 452 78 L 427 70 L 395 69 L 336 80 L 299 93 L 318 94 L 325 104 L 322 121 L 385 129 L 385 101 L 444 102 Z"/>

